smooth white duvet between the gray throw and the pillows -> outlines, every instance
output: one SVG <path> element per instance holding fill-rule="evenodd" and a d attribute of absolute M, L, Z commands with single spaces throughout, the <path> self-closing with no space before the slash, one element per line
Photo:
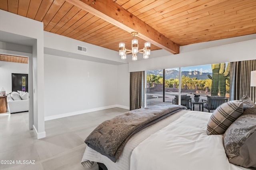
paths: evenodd
<path fill-rule="evenodd" d="M 211 113 L 188 111 L 136 147 L 131 170 L 246 170 L 228 162 L 222 135 L 207 135 Z"/>

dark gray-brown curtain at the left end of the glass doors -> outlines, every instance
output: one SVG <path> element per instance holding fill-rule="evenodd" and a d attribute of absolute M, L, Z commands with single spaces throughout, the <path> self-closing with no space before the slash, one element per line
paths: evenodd
<path fill-rule="evenodd" d="M 145 72 L 130 72 L 130 110 L 141 108 L 144 104 Z"/>

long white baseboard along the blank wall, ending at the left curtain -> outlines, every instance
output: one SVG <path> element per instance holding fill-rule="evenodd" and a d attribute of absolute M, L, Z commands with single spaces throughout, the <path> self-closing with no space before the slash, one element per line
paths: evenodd
<path fill-rule="evenodd" d="M 114 107 L 120 107 L 120 108 L 123 108 L 123 109 L 130 109 L 127 106 L 111 105 L 111 106 L 97 107 L 97 108 L 94 108 L 94 109 L 86 109 L 86 110 L 74 111 L 74 112 L 69 112 L 69 113 L 62 113 L 62 114 L 58 114 L 58 115 L 46 116 L 46 117 L 44 117 L 44 121 L 48 121 L 48 120 L 52 120 L 52 119 L 58 119 L 58 118 L 62 118 L 62 117 L 79 115 L 79 114 L 83 114 L 83 113 L 89 113 L 89 112 L 92 112 L 92 111 L 110 109 L 110 108 L 114 108 Z"/>

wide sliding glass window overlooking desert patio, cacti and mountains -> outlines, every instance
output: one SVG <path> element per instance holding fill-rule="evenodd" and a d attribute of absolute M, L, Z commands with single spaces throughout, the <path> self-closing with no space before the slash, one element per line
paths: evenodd
<path fill-rule="evenodd" d="M 200 95 L 200 101 L 206 96 L 229 97 L 230 63 L 207 64 L 181 68 L 181 95 Z M 163 81 L 164 80 L 164 81 Z M 159 102 L 175 102 L 179 94 L 179 68 L 147 71 L 147 106 Z"/>

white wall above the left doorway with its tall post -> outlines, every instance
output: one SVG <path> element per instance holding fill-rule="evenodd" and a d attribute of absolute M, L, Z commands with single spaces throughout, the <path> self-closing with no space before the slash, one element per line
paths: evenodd
<path fill-rule="evenodd" d="M 15 35 L 34 39 L 32 44 L 33 62 L 33 127 L 37 138 L 46 136 L 44 131 L 44 24 L 23 16 L 0 10 L 0 31 L 9 33 L 12 42 Z M 10 41 L 9 41 L 10 42 Z M 32 94 L 30 94 L 32 95 Z M 30 103 L 31 104 L 31 103 Z M 30 110 L 31 111 L 31 110 Z M 30 112 L 31 113 L 31 112 Z M 29 114 L 30 114 L 29 113 Z M 31 124 L 31 116 L 29 122 Z"/>

